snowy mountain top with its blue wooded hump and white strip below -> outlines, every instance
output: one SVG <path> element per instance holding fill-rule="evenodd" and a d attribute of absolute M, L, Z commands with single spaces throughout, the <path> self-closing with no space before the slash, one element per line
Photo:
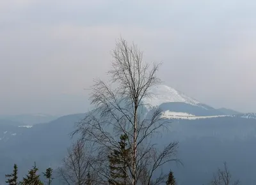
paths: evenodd
<path fill-rule="evenodd" d="M 241 114 L 227 108 L 209 107 L 167 85 L 156 85 L 149 90 L 149 93 L 150 96 L 143 99 L 147 112 L 150 112 L 152 107 L 159 107 L 163 110 L 163 117 L 168 119 L 207 119 L 235 115 L 256 119 L 256 114 Z"/>

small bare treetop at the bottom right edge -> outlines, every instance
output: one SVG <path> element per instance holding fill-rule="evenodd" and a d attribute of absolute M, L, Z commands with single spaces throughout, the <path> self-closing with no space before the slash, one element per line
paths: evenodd
<path fill-rule="evenodd" d="M 230 174 L 227 163 L 224 162 L 224 169 L 221 170 L 220 168 L 218 169 L 218 172 L 213 175 L 213 179 L 211 181 L 212 185 L 237 185 L 239 184 L 239 181 L 232 181 L 231 177 L 232 175 Z"/>

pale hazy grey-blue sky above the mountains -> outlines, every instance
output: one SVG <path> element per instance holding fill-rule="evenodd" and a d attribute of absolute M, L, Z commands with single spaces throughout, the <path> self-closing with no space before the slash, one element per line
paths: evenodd
<path fill-rule="evenodd" d="M 255 0 L 0 1 L 0 114 L 85 112 L 116 38 L 213 107 L 256 112 Z"/>

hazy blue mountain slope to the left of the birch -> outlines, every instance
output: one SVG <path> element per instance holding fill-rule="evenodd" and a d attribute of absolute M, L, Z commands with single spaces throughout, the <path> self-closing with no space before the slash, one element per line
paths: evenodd
<path fill-rule="evenodd" d="M 19 166 L 20 177 L 23 176 L 33 161 L 40 169 L 60 166 L 67 148 L 72 140 L 70 133 L 74 123 L 83 119 L 84 114 L 66 115 L 45 124 L 36 124 L 31 128 L 8 126 L 1 128 L 0 140 L 0 174 L 12 172 L 13 163 Z M 0 125 L 1 126 L 1 125 Z M 16 133 L 15 135 L 12 135 Z M 8 137 L 7 137 L 8 136 Z M 3 181 L 4 175 L 0 177 Z"/>

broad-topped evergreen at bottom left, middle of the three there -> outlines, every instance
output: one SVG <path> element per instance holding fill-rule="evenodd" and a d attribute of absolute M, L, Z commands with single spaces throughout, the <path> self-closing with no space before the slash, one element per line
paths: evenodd
<path fill-rule="evenodd" d="M 36 167 L 36 163 L 32 166 L 32 169 L 29 170 L 28 175 L 23 178 L 23 181 L 20 182 L 22 185 L 42 185 L 42 181 L 40 181 L 40 175 L 38 175 L 38 168 Z"/>

